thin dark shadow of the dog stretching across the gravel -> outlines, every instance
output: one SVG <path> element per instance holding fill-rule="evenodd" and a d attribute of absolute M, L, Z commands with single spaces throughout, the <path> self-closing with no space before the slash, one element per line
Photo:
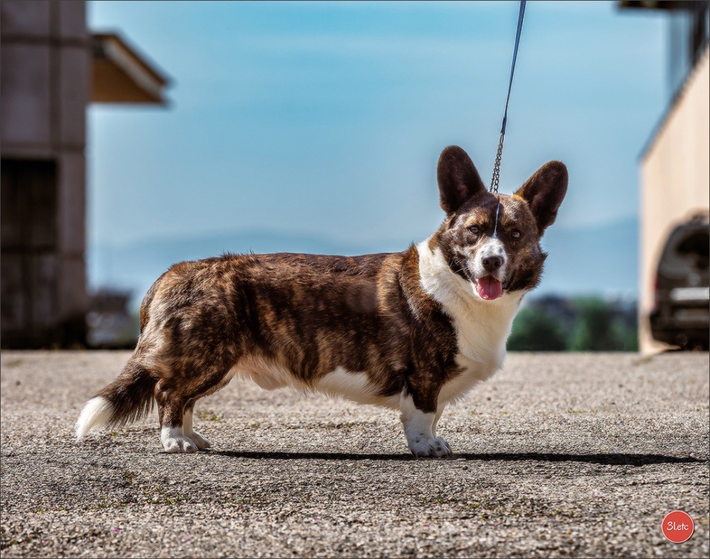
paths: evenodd
<path fill-rule="evenodd" d="M 431 460 L 415 458 L 410 454 L 356 454 L 351 452 L 253 452 L 237 450 L 209 450 L 212 455 L 249 460 L 339 460 L 374 462 L 409 462 Z M 657 464 L 702 464 L 708 460 L 692 456 L 662 454 L 626 454 L 602 452 L 598 454 L 566 454 L 556 452 L 463 452 L 440 460 L 467 460 L 471 462 L 583 462 L 603 466 L 647 466 Z"/>

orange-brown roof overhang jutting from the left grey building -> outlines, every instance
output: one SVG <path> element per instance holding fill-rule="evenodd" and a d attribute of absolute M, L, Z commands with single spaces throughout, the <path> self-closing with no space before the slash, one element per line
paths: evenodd
<path fill-rule="evenodd" d="M 118 33 L 92 34 L 94 103 L 167 104 L 170 80 Z"/>

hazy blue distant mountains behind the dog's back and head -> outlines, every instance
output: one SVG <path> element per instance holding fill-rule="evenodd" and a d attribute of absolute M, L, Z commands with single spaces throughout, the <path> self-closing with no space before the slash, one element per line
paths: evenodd
<path fill-rule="evenodd" d="M 191 239 L 148 239 L 126 245 L 97 244 L 89 248 L 89 286 L 131 291 L 137 308 L 153 281 L 172 264 L 244 253 L 310 252 L 367 254 L 405 249 L 413 240 L 384 239 L 354 244 L 302 234 L 242 231 Z M 550 253 L 538 293 L 635 293 L 638 278 L 638 222 L 627 219 L 603 226 L 551 227 L 543 246 Z"/>

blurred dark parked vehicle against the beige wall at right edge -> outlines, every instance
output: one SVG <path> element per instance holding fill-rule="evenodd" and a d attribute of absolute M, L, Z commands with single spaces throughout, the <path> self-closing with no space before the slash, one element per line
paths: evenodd
<path fill-rule="evenodd" d="M 672 230 L 658 261 L 650 315 L 655 340 L 682 349 L 709 349 L 709 263 L 708 217 L 694 217 Z"/>

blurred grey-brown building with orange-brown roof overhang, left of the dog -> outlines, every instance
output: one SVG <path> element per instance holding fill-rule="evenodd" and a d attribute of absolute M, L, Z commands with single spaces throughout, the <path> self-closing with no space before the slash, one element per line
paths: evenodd
<path fill-rule="evenodd" d="M 0 341 L 84 344 L 87 104 L 164 104 L 168 81 L 83 1 L 3 0 L 0 42 Z"/>

